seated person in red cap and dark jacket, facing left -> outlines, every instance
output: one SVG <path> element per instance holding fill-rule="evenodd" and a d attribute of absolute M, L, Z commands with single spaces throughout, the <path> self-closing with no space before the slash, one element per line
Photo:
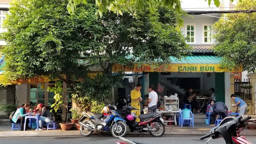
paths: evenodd
<path fill-rule="evenodd" d="M 50 112 L 49 106 L 44 106 L 41 111 L 41 116 L 39 118 L 39 131 L 43 130 L 43 122 L 53 123 L 55 121 L 54 114 Z"/>

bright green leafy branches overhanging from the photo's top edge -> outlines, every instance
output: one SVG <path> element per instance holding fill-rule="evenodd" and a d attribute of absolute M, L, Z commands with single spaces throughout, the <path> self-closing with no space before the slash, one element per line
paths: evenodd
<path fill-rule="evenodd" d="M 70 13 L 74 13 L 74 9 L 77 5 L 81 3 L 87 4 L 87 1 L 88 0 L 69 0 L 67 9 Z M 208 5 L 210 6 L 211 0 L 205 1 L 208 1 Z M 234 0 L 230 1 L 233 2 Z M 213 2 L 215 6 L 219 7 L 219 0 L 213 0 Z M 100 15 L 100 17 L 102 17 L 103 13 L 107 13 L 108 11 L 122 15 L 123 10 L 134 12 L 137 10 L 142 11 L 147 9 L 147 7 L 149 7 L 150 11 L 154 12 L 159 3 L 169 7 L 169 9 L 175 9 L 178 13 L 180 13 L 182 9 L 180 0 L 95 0 L 95 4 L 98 6 L 96 14 Z"/>

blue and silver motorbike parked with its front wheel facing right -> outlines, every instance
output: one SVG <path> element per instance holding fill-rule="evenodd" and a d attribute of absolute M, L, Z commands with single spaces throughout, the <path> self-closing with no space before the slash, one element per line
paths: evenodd
<path fill-rule="evenodd" d="M 83 111 L 83 115 L 80 117 L 80 133 L 87 137 L 93 132 L 105 132 L 111 131 L 113 137 L 123 137 L 127 132 L 126 120 L 115 111 L 117 107 L 115 105 L 108 105 L 110 107 L 110 115 L 101 120 L 104 117 L 103 114 L 92 113 L 89 111 Z M 115 109 L 115 110 L 114 110 Z"/>

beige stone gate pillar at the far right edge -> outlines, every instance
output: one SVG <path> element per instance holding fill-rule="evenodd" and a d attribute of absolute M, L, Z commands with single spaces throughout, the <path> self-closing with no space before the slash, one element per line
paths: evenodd
<path fill-rule="evenodd" d="M 256 73 L 248 74 L 247 78 L 250 79 L 250 85 L 252 85 L 252 104 L 250 104 L 249 107 L 251 107 L 251 110 L 249 111 L 250 114 L 255 114 L 256 107 L 255 107 L 255 92 L 256 92 Z M 249 108 L 248 107 L 248 108 Z"/>

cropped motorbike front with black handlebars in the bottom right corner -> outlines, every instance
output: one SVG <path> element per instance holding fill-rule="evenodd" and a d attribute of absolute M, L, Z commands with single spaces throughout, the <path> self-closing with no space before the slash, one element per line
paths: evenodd
<path fill-rule="evenodd" d="M 243 116 L 228 116 L 224 118 L 218 126 L 210 129 L 210 132 L 200 138 L 211 137 L 207 140 L 208 143 L 211 139 L 216 139 L 223 137 L 226 144 L 252 144 L 247 138 L 240 136 L 240 132 L 243 131 L 246 123 L 251 117 L 248 116 L 243 118 Z"/>

